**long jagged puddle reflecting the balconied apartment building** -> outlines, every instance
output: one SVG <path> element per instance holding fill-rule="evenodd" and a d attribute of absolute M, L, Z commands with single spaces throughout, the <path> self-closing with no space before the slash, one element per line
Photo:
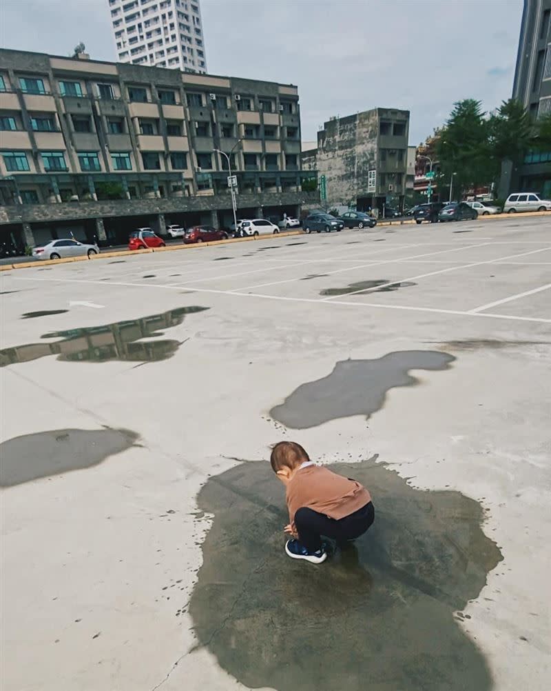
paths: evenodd
<path fill-rule="evenodd" d="M 203 312 L 209 307 L 179 307 L 143 319 L 117 321 L 104 326 L 55 331 L 44 334 L 43 339 L 61 339 L 55 343 L 28 343 L 0 350 L 0 367 L 29 362 L 47 355 L 72 362 L 106 362 L 108 360 L 153 362 L 171 357 L 182 343 L 160 339 L 142 339 L 162 336 L 161 329 L 180 325 L 186 314 Z"/>

